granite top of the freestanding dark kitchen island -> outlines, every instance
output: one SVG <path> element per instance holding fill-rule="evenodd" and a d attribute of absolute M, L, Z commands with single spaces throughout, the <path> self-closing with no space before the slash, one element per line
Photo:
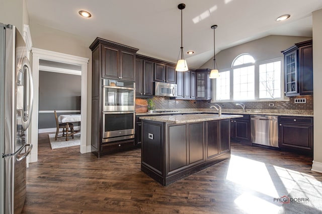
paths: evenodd
<path fill-rule="evenodd" d="M 171 112 L 170 112 L 171 113 Z M 241 115 L 228 115 L 224 114 L 220 117 L 218 114 L 187 114 L 187 115 L 163 115 L 163 116 L 142 116 L 142 120 L 153 120 L 165 123 L 192 123 L 208 120 L 223 120 L 230 118 L 243 117 Z"/>

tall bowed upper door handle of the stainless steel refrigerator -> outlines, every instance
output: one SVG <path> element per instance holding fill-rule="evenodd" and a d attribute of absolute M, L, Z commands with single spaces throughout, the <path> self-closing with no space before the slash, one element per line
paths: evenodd
<path fill-rule="evenodd" d="M 24 114 L 23 112 L 21 112 L 21 123 L 22 123 L 22 127 L 24 128 L 24 130 L 26 130 L 30 124 L 31 121 L 31 115 L 32 115 L 32 107 L 33 107 L 33 102 L 34 102 L 34 84 L 33 84 L 33 80 L 32 80 L 32 74 L 31 74 L 31 66 L 29 63 L 29 60 L 27 59 L 27 57 L 24 57 L 24 59 L 22 60 L 21 63 L 21 68 L 22 69 L 26 69 L 28 71 L 28 77 L 29 77 L 29 109 L 28 109 L 28 118 L 27 120 L 25 120 L 24 118 Z M 23 111 L 23 110 L 20 110 Z"/>

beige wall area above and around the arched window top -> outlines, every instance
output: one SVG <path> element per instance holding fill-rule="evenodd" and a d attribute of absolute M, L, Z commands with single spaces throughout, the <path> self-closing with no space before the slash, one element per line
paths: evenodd
<path fill-rule="evenodd" d="M 252 42 L 234 46 L 216 54 L 216 63 L 219 70 L 231 67 L 232 61 L 240 54 L 248 53 L 258 62 L 283 57 L 281 51 L 295 43 L 310 40 L 309 37 L 268 36 Z M 213 67 L 213 57 L 201 68 Z"/>

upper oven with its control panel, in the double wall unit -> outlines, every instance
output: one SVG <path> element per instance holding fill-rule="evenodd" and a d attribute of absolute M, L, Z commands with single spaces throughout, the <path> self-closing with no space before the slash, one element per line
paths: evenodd
<path fill-rule="evenodd" d="M 103 111 L 135 111 L 135 83 L 104 79 Z"/>

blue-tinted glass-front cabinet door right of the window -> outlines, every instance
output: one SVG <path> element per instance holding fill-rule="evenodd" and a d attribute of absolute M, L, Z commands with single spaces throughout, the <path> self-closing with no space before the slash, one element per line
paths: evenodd
<path fill-rule="evenodd" d="M 285 55 L 285 94 L 297 93 L 296 51 Z"/>

